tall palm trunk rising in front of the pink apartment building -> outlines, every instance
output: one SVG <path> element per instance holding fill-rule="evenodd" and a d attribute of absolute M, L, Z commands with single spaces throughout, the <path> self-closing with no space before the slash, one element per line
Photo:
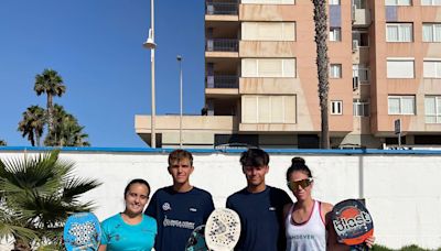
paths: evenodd
<path fill-rule="evenodd" d="M 329 57 L 327 57 L 327 14 L 325 0 L 312 0 L 314 4 L 314 24 L 315 24 L 315 44 L 316 44 L 316 65 L 319 76 L 319 99 L 320 113 L 322 118 L 321 130 L 321 148 L 330 148 L 330 127 L 327 111 L 327 94 L 330 90 L 329 84 Z"/>

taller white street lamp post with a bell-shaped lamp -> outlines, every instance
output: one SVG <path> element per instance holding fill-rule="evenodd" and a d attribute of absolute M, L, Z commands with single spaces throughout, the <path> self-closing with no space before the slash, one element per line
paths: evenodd
<path fill-rule="evenodd" d="M 149 37 L 142 44 L 144 47 L 150 48 L 150 65 L 151 65 L 151 143 L 152 149 L 157 148 L 157 132 L 155 132 L 155 95 L 154 95 L 154 50 L 157 44 L 154 43 L 154 0 L 150 0 L 150 17 L 151 17 L 151 28 L 149 30 Z"/>

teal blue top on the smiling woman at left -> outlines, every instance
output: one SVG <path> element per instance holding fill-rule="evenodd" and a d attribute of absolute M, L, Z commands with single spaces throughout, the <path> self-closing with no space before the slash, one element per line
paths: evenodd
<path fill-rule="evenodd" d="M 143 215 L 141 222 L 128 225 L 120 214 L 117 214 L 101 223 L 101 244 L 107 251 L 150 251 L 157 236 L 157 221 Z"/>

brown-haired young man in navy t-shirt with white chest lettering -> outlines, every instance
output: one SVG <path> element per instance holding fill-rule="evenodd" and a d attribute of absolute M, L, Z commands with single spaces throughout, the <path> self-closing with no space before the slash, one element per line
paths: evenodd
<path fill-rule="evenodd" d="M 158 189 L 146 209 L 146 215 L 158 222 L 154 243 L 157 251 L 182 251 L 192 231 L 205 223 L 214 210 L 212 195 L 190 184 L 193 156 L 185 150 L 169 154 L 169 174 L 173 185 Z"/>

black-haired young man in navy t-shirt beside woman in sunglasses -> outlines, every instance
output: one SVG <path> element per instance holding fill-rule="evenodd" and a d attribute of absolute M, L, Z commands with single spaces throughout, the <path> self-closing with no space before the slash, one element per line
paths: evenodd
<path fill-rule="evenodd" d="M 241 232 L 237 251 L 284 250 L 283 206 L 292 203 L 288 194 L 266 185 L 269 155 L 260 149 L 249 149 L 240 155 L 247 187 L 227 198 L 227 208 L 240 217 Z"/>

